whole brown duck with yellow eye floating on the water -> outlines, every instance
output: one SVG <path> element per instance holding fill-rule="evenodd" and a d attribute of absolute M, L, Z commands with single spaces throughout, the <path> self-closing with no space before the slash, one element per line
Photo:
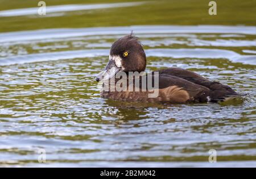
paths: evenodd
<path fill-rule="evenodd" d="M 220 102 L 240 96 L 227 85 L 210 81 L 195 72 L 182 68 L 172 67 L 145 73 L 146 61 L 142 43 L 133 34 L 114 41 L 110 48 L 108 64 L 95 78 L 97 82 L 103 82 L 100 91 L 101 97 L 133 102 L 188 103 Z M 118 73 L 127 75 L 117 77 Z M 129 80 L 130 73 L 141 75 L 133 76 L 132 80 Z M 134 84 L 136 79 L 139 80 L 137 86 Z M 142 79 L 146 79 L 146 85 L 143 85 Z M 127 84 L 120 85 L 118 80 L 127 82 Z M 154 97 L 150 96 L 152 88 L 148 88 L 148 80 L 153 81 L 152 83 L 157 81 L 153 89 L 158 93 Z M 115 89 L 114 85 L 118 83 L 122 89 L 130 90 Z M 112 84 L 114 89 L 110 90 Z"/>

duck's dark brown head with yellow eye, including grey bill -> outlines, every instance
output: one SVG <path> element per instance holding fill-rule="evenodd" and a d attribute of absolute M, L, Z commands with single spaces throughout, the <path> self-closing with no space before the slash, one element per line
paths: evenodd
<path fill-rule="evenodd" d="M 146 55 L 135 36 L 127 35 L 115 41 L 110 49 L 109 62 L 96 81 L 108 80 L 117 72 L 143 72 L 146 68 Z"/>

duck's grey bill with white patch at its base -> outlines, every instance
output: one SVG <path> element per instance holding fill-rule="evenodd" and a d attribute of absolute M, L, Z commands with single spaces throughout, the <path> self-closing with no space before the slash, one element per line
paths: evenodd
<path fill-rule="evenodd" d="M 117 72 L 119 72 L 120 69 L 121 68 L 117 67 L 114 61 L 111 60 L 109 61 L 108 65 L 106 65 L 106 68 L 97 75 L 95 80 L 96 81 L 109 80 L 110 78 L 115 76 L 115 74 L 117 74 Z"/>

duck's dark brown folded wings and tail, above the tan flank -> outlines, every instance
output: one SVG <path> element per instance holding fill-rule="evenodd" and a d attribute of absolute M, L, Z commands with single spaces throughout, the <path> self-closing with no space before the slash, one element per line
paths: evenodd
<path fill-rule="evenodd" d="M 170 85 L 172 83 L 179 84 L 177 86 L 182 87 L 188 92 L 189 96 L 191 97 L 189 101 L 192 102 L 217 102 L 230 96 L 238 95 L 236 91 L 231 89 L 229 86 L 220 84 L 216 81 L 207 80 L 207 78 L 185 69 L 167 68 L 158 70 L 158 72 L 160 76 L 167 75 L 165 80 L 159 80 L 160 84 L 163 82 L 164 86 L 166 81 L 172 79 Z M 160 84 L 159 86 L 161 86 Z"/>

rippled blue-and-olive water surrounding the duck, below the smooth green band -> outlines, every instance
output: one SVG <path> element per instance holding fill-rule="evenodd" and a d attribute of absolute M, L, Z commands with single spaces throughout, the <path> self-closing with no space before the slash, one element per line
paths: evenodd
<path fill-rule="evenodd" d="M 177 66 L 246 95 L 182 105 L 100 98 L 94 77 L 131 30 L 147 72 Z M 256 166 L 255 31 L 190 24 L 0 33 L 0 166 Z M 208 162 L 210 149 L 217 163 Z"/>

